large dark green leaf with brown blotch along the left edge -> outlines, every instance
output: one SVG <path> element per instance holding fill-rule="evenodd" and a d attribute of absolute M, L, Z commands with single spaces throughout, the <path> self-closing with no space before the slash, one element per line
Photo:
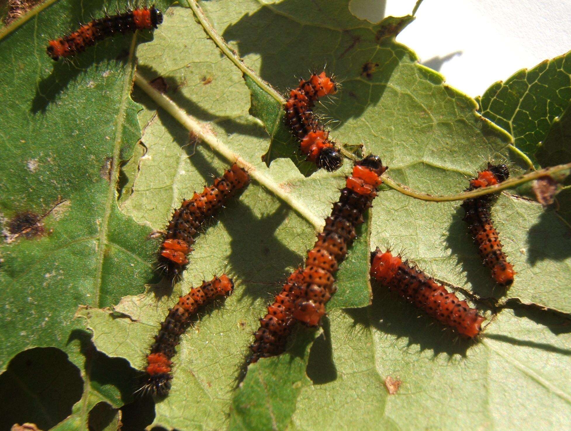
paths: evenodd
<path fill-rule="evenodd" d="M 95 404 L 118 407 L 130 397 L 119 389 L 128 374 L 103 385 L 90 380 L 78 304 L 106 307 L 152 278 L 156 241 L 119 212 L 115 190 L 119 163 L 140 137 L 130 99 L 135 42 L 150 35 L 104 41 L 74 62 L 56 63 L 45 54 L 47 41 L 70 23 L 102 16 L 103 2 L 39 9 L 0 32 L 0 368 L 23 349 L 66 352 L 86 379 L 70 418 L 78 429 Z"/>

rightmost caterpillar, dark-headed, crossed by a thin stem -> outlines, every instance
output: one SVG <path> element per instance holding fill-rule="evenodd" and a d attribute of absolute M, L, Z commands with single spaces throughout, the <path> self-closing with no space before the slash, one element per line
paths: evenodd
<path fill-rule="evenodd" d="M 508 167 L 505 164 L 494 166 L 488 163 L 485 171 L 478 172 L 477 178 L 470 180 L 470 187 L 466 190 L 493 186 L 504 182 L 509 177 Z M 509 286 L 513 283 L 513 266 L 508 262 L 508 256 L 502 251 L 502 244 L 496 228 L 492 223 L 490 207 L 496 196 L 484 195 L 479 198 L 466 199 L 462 203 L 466 215 L 464 221 L 468 223 L 470 233 L 478 246 L 480 256 L 492 271 L 496 283 Z"/>

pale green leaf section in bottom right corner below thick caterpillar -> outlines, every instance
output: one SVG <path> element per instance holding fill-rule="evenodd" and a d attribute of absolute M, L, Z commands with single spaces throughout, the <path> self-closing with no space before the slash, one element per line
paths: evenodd
<path fill-rule="evenodd" d="M 414 429 L 420 421 L 436 429 L 517 429 L 529 421 L 557 428 L 569 421 L 565 319 L 504 309 L 477 343 L 452 343 L 382 289 L 371 308 L 329 316 L 336 378 L 301 391 L 290 428 Z M 392 395 L 388 377 L 401 382 Z"/>

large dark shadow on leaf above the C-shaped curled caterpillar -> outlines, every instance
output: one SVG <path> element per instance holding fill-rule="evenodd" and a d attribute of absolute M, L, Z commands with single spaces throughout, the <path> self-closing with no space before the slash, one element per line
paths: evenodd
<path fill-rule="evenodd" d="M 253 14 L 244 15 L 227 27 L 223 37 L 238 47 L 240 57 L 251 54 L 259 57 L 260 76 L 282 94 L 297 85 L 296 76 L 307 78 L 308 67 L 315 67 L 313 71 L 317 71 L 329 65 L 328 72 L 336 74 L 343 87 L 338 94 L 338 103 L 329 114 L 340 124 L 359 118 L 369 104 L 381 101 L 400 59 L 409 57 L 412 60 L 411 54 L 392 38 L 377 40 L 376 27 L 373 31 L 364 28 L 335 30 L 336 25 L 340 29 L 347 26 L 343 17 L 315 2 L 306 6 L 305 14 L 318 14 L 320 19 L 327 18 L 332 25 L 329 28 L 307 26 L 303 19 L 297 21 L 288 18 L 289 14 L 276 13 L 275 10 L 299 10 L 295 1 L 284 0 L 272 8 L 262 7 Z M 261 31 L 269 31 L 270 25 L 272 37 L 260 35 Z M 284 61 L 288 57 L 295 61 Z M 364 67 L 368 64 L 376 66 L 363 78 Z"/>

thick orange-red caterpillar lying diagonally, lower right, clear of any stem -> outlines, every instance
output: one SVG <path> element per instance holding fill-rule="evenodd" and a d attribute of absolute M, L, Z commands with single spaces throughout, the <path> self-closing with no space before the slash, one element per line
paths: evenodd
<path fill-rule="evenodd" d="M 400 256 L 377 248 L 371 253 L 371 277 L 461 335 L 473 338 L 480 333 L 485 319 L 475 308 Z"/>

